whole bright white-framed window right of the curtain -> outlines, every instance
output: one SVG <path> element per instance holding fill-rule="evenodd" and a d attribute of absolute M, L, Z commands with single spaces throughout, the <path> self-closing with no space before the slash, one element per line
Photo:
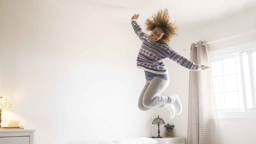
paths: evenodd
<path fill-rule="evenodd" d="M 211 54 L 210 65 L 218 118 L 256 115 L 256 43 Z"/>

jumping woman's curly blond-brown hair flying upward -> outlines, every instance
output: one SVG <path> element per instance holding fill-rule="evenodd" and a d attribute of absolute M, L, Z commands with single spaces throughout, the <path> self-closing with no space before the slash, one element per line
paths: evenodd
<path fill-rule="evenodd" d="M 151 17 L 153 18 L 153 20 L 150 19 Z M 179 27 L 174 26 L 175 22 L 170 22 L 168 9 L 160 9 L 157 11 L 156 14 L 153 14 L 151 17 L 146 19 L 146 30 L 152 31 L 156 27 L 162 28 L 164 30 L 164 36 L 161 39 L 159 39 L 158 42 L 169 44 L 171 38 L 177 36 Z"/>

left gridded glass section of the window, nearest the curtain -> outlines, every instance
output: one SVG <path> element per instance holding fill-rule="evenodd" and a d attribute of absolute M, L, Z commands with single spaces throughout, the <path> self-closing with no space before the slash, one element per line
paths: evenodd
<path fill-rule="evenodd" d="M 211 62 L 216 109 L 243 108 L 239 57 Z"/>

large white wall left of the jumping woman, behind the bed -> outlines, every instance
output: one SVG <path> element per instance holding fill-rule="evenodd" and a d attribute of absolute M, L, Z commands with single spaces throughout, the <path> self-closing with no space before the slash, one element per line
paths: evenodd
<path fill-rule="evenodd" d="M 36 129 L 35 144 L 150 137 L 157 115 L 137 107 L 145 76 L 135 12 L 86 1 L 0 3 L 0 96 L 12 103 L 2 126 Z"/>

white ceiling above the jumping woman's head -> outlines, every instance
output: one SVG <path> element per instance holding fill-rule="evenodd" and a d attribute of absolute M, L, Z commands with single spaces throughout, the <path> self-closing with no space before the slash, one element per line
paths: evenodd
<path fill-rule="evenodd" d="M 256 7 L 256 0 L 94 0 L 91 3 L 115 10 L 123 16 L 139 13 L 141 19 L 150 17 L 160 8 L 168 8 L 171 20 L 179 26 L 216 22 Z"/>

